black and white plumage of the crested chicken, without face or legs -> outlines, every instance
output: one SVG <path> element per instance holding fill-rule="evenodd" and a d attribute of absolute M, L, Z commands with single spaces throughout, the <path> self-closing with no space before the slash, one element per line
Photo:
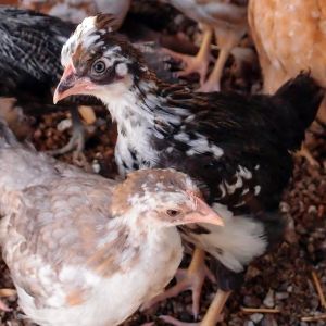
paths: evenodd
<path fill-rule="evenodd" d="M 123 130 L 115 150 L 120 171 L 174 167 L 198 183 L 210 204 L 233 215 L 226 216 L 226 224 L 237 227 L 236 218 L 241 218 L 239 227 L 243 229 L 239 234 L 243 238 L 239 239 L 248 243 L 226 239 L 231 235 L 229 228 L 225 228 L 223 238 L 229 242 L 223 247 L 214 243 L 214 237 L 206 237 L 208 231 L 218 237 L 216 229 L 201 226 L 192 231 L 189 226 L 180 227 L 186 240 L 221 259 L 216 262 L 220 286 L 233 289 L 250 260 L 281 239 L 284 222 L 277 211 L 292 175 L 291 151 L 300 147 L 316 114 L 321 88 L 308 74 L 300 74 L 273 96 L 193 92 L 158 79 L 147 68 L 141 53 L 116 34 L 100 36 L 85 50 L 88 64 L 95 60 L 92 57 L 110 55 L 103 53 L 103 42 L 106 49 L 118 48 L 134 77 L 134 85 L 125 90 L 127 104 L 117 101 L 118 114 L 111 109 L 114 105 L 110 105 L 110 97 L 105 97 L 118 130 Z M 79 64 L 83 66 L 83 62 Z M 98 84 L 108 84 L 110 91 L 110 83 Z M 258 230 L 252 230 L 253 225 Z M 253 248 L 242 250 L 243 246 Z"/>

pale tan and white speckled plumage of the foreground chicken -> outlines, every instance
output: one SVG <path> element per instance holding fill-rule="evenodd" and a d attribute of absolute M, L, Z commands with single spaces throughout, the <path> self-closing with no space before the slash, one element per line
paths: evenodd
<path fill-rule="evenodd" d="M 161 292 L 183 254 L 166 210 L 196 210 L 187 191 L 198 188 L 170 170 L 122 184 L 86 174 L 20 145 L 1 123 L 0 244 L 27 317 L 117 325 Z"/>

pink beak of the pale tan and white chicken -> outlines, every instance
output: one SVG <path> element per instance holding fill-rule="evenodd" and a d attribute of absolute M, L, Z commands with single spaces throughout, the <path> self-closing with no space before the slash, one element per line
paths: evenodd
<path fill-rule="evenodd" d="M 185 224 L 190 223 L 208 223 L 213 225 L 223 226 L 224 222 L 222 217 L 202 199 L 195 197 L 196 210 L 187 214 L 184 218 Z"/>

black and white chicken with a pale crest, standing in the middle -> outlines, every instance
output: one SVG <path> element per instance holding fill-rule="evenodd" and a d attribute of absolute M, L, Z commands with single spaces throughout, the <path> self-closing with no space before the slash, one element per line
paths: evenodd
<path fill-rule="evenodd" d="M 65 43 L 54 102 L 72 95 L 101 99 L 117 122 L 122 175 L 145 167 L 187 172 L 224 218 L 223 228 L 181 227 L 187 241 L 215 258 L 220 290 L 201 323 L 215 325 L 248 264 L 283 239 L 278 205 L 292 174 L 291 152 L 314 120 L 321 89 L 308 74 L 274 96 L 200 93 L 167 85 L 137 49 L 110 32 L 111 20 L 84 20 Z M 192 286 L 198 313 L 206 269 L 203 252 L 195 256 L 191 273 L 167 296 Z"/>

